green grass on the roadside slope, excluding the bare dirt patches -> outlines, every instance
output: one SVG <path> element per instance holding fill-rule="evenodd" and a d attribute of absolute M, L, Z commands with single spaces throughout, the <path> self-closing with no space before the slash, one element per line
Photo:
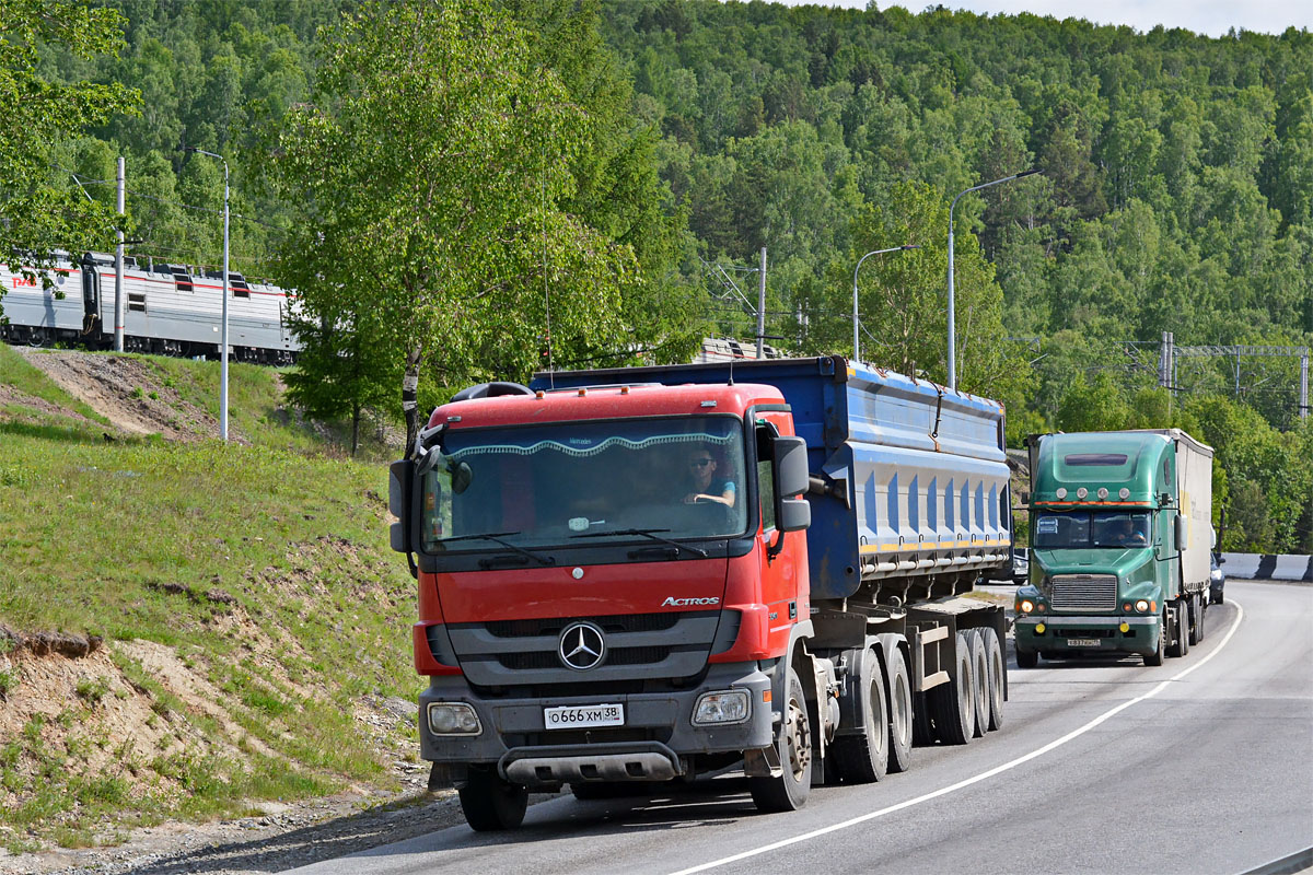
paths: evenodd
<path fill-rule="evenodd" d="M 217 365 L 150 361 L 161 382 L 217 407 Z M 127 824 L 205 816 L 386 782 L 352 716 L 362 694 L 412 699 L 420 686 L 414 581 L 386 543 L 386 468 L 332 458 L 340 451 L 280 424 L 268 370 L 231 371 L 231 421 L 252 446 L 105 442 L 100 417 L 0 345 L 4 383 L 87 418 L 47 411 L 33 424 L 0 409 L 0 622 L 101 635 L 112 652 L 133 639 L 176 648 L 249 739 L 230 740 L 236 757 L 185 744 L 143 760 L 139 781 L 106 786 L 85 774 L 89 756 L 51 745 L 46 731 L 95 715 L 76 703 L 54 720 L 34 715 L 18 737 L 0 737 L 0 796 L 11 792 L 0 844 L 85 844 L 105 813 Z M 155 712 L 190 724 L 175 737 L 223 732 L 131 659 L 114 660 Z M 14 682 L 13 672 L 0 678 L 0 699 Z"/>

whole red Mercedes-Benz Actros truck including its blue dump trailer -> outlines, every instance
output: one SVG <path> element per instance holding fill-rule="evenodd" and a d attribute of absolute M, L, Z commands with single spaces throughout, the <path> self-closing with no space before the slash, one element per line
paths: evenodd
<path fill-rule="evenodd" d="M 1002 724 L 999 404 L 842 358 L 467 388 L 393 464 L 431 786 L 474 829 L 739 766 L 760 809 Z"/>

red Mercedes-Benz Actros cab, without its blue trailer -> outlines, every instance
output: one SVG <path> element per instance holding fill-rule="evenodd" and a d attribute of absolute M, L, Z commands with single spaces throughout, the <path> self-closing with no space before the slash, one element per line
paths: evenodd
<path fill-rule="evenodd" d="M 496 829 L 529 787 L 588 795 L 746 758 L 759 803 L 796 807 L 809 770 L 789 767 L 780 723 L 810 624 L 810 510 L 780 391 L 492 386 L 437 408 L 393 466 L 431 783 Z"/>

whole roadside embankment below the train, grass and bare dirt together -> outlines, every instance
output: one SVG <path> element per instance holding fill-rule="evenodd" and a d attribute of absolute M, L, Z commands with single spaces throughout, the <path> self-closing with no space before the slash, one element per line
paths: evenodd
<path fill-rule="evenodd" d="M 68 356 L 138 366 L 117 388 L 196 432 L 121 429 L 46 376 Z M 386 468 L 285 418 L 255 367 L 232 369 L 240 442 L 219 443 L 217 370 L 0 345 L 0 846 L 399 790 L 391 762 L 415 761 Z"/>

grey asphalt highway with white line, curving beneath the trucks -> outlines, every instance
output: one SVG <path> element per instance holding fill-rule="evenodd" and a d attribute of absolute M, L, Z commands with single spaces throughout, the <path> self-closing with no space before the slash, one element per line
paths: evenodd
<path fill-rule="evenodd" d="M 759 815 L 741 777 L 532 805 L 298 872 L 1232 875 L 1313 846 L 1313 586 L 1228 581 L 1183 659 L 1010 665 L 1002 731 Z"/>

